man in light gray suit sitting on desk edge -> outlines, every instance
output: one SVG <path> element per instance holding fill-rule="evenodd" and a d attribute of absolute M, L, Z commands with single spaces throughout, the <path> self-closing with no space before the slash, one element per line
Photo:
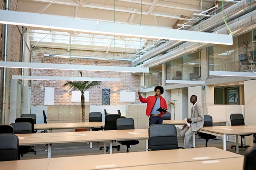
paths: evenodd
<path fill-rule="evenodd" d="M 191 136 L 195 131 L 204 127 L 203 108 L 196 101 L 197 101 L 197 96 L 192 95 L 190 97 L 190 103 L 193 104 L 193 107 L 191 108 L 191 117 L 190 119 L 187 119 L 187 122 L 190 123 L 191 126 L 188 127 L 188 125 L 185 124 L 182 127 L 182 131 L 180 132 L 181 139 L 184 142 L 184 148 L 193 148 L 193 146 L 189 142 Z"/>

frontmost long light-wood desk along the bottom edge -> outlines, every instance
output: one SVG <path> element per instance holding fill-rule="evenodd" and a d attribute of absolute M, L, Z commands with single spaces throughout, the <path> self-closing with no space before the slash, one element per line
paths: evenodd
<path fill-rule="evenodd" d="M 228 167 L 227 169 L 230 169 L 231 166 L 234 167 L 231 169 L 241 170 L 243 159 L 243 155 L 231 153 L 229 151 L 221 150 L 215 147 L 204 147 L 195 149 L 175 149 L 149 152 L 117 153 L 108 155 L 86 155 L 76 157 L 4 161 L 0 162 L 0 167 L 4 170 L 89 170 L 113 168 L 155 169 L 156 167 L 158 169 L 159 167 L 161 167 L 161 169 L 180 169 L 180 167 L 186 167 L 187 165 L 190 165 L 187 167 L 191 168 L 196 166 L 200 169 L 202 166 L 201 169 L 207 169 L 207 167 L 219 166 L 218 169 L 223 169 L 223 166 L 226 168 Z M 30 164 L 30 162 L 33 163 Z M 184 163 L 186 166 L 183 165 Z M 36 165 L 38 166 L 35 167 Z M 193 169 L 195 168 L 193 167 Z"/>

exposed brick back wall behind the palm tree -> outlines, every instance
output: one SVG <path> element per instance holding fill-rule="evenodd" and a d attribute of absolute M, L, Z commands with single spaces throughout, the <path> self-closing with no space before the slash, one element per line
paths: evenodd
<path fill-rule="evenodd" d="M 58 64 L 88 64 L 97 66 L 130 66 L 131 62 L 117 61 L 115 60 L 94 60 L 94 59 L 76 59 L 76 58 L 53 58 L 44 57 L 44 54 L 62 54 L 72 56 L 98 56 L 113 58 L 113 53 L 105 54 L 105 52 L 99 51 L 81 51 L 72 50 L 67 52 L 64 49 L 54 48 L 35 48 L 33 53 L 33 62 L 35 63 L 58 63 Z M 115 58 L 127 58 L 127 54 L 121 54 L 115 52 Z M 43 70 L 33 69 L 32 75 L 41 76 L 79 76 L 78 71 L 67 70 Z M 101 92 L 102 88 L 110 88 L 110 104 L 130 104 L 127 102 L 120 102 L 120 94 L 114 93 L 117 90 L 123 90 L 126 88 L 134 88 L 140 86 L 140 76 L 127 72 L 102 72 L 102 71 L 83 71 L 83 77 L 102 77 L 102 78 L 121 78 L 121 82 L 102 82 L 101 88 L 92 88 L 90 92 L 90 101 L 86 104 L 101 105 Z M 64 88 L 65 81 L 51 81 L 51 80 L 33 80 L 32 81 L 32 103 L 31 106 L 44 106 L 44 88 L 54 87 L 54 104 L 80 104 L 80 102 L 71 102 L 71 92 L 66 93 L 68 88 Z M 139 103 L 139 98 L 136 96 L 136 104 Z"/>

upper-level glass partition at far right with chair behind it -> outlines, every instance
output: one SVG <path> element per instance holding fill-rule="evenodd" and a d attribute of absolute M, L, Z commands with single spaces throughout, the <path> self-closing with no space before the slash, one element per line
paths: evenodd
<path fill-rule="evenodd" d="M 255 35 L 255 31 L 253 35 Z M 253 62 L 256 37 L 252 33 L 234 37 L 233 45 L 214 45 L 208 47 L 208 70 L 209 71 L 250 71 Z M 256 62 L 256 56 L 254 57 Z M 255 69 L 255 65 L 252 65 Z"/>

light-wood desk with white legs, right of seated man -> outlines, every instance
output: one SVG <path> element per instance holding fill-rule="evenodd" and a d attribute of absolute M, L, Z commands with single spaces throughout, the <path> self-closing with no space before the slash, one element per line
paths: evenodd
<path fill-rule="evenodd" d="M 199 132 L 207 133 L 222 137 L 222 149 L 226 150 L 226 135 L 236 135 L 236 153 L 239 153 L 238 148 L 238 135 L 242 134 L 255 134 L 256 125 L 251 126 L 219 126 L 217 127 L 204 127 Z"/>

